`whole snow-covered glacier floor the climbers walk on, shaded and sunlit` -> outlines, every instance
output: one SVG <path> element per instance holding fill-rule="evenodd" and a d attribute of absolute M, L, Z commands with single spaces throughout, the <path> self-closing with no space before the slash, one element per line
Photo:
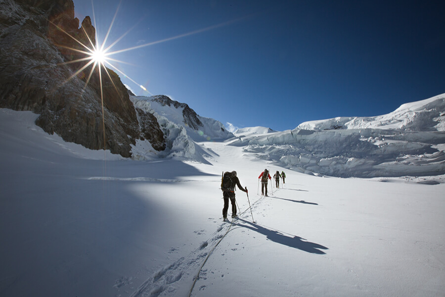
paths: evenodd
<path fill-rule="evenodd" d="M 0 109 L 0 296 L 444 296 L 440 177 L 317 177 L 234 140 L 197 144 L 207 163 L 134 161 L 36 117 Z M 261 197 L 266 167 L 287 178 Z M 232 224 L 231 170 L 249 190 Z"/>

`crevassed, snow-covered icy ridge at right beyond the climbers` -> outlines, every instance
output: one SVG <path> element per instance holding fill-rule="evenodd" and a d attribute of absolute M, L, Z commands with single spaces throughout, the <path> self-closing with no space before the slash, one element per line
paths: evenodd
<path fill-rule="evenodd" d="M 231 145 L 292 170 L 339 177 L 445 174 L 445 94 L 387 115 L 311 121 L 294 130 L 235 133 Z M 247 129 L 248 130 L 248 129 Z"/>

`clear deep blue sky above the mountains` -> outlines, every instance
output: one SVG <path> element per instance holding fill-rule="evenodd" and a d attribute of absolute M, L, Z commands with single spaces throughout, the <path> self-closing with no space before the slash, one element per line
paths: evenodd
<path fill-rule="evenodd" d="M 119 1 L 93 4 L 103 41 Z M 74 5 L 81 22 L 92 18 L 90 0 Z M 112 50 L 185 34 L 114 64 L 201 116 L 282 131 L 445 93 L 444 15 L 444 0 L 126 0 L 106 45 L 131 28 Z"/>

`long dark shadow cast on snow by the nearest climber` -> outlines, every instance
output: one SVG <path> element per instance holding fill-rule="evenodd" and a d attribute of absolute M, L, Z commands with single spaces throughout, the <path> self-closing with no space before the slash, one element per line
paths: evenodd
<path fill-rule="evenodd" d="M 238 223 L 239 221 L 242 221 L 245 224 Z M 237 222 L 234 222 L 233 225 L 245 227 L 250 230 L 256 231 L 258 233 L 261 233 L 263 235 L 266 235 L 266 238 L 268 240 L 271 240 L 277 244 L 285 245 L 288 247 L 298 248 L 298 249 L 306 251 L 306 252 L 316 253 L 316 254 L 325 254 L 325 252 L 322 251 L 321 249 L 328 249 L 327 247 L 324 247 L 322 245 L 308 242 L 308 241 L 306 241 L 306 239 L 301 238 L 299 236 L 293 236 L 293 237 L 286 236 L 279 231 L 267 229 L 267 228 L 262 227 L 258 224 L 243 220 L 241 218 L 239 218 L 237 220 Z"/>

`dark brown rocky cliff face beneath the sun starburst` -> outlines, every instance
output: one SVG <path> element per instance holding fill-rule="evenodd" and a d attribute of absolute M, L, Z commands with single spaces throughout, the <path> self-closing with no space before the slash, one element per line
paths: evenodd
<path fill-rule="evenodd" d="M 69 35 L 71 36 L 69 36 Z M 163 150 L 165 140 L 154 116 L 137 114 L 118 75 L 102 71 L 103 106 L 98 71 L 86 68 L 74 49 L 94 44 L 86 17 L 79 28 L 72 0 L 3 0 L 0 2 L 0 107 L 31 110 L 48 133 L 91 149 L 131 156 L 135 141 L 148 140 Z M 72 38 L 73 37 L 73 38 Z M 105 134 L 105 137 L 103 136 Z"/>

